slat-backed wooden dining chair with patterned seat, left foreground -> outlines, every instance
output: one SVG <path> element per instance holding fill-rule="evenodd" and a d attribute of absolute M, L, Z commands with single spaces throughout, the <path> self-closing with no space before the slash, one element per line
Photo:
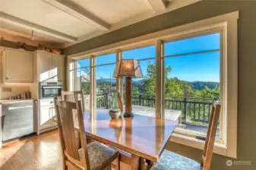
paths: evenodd
<path fill-rule="evenodd" d="M 77 110 L 81 149 L 77 149 L 74 135 L 72 110 Z M 115 169 L 119 170 L 119 152 L 111 147 L 92 142 L 87 144 L 84 131 L 84 120 L 81 100 L 74 102 L 58 100 L 55 97 L 55 111 L 58 121 L 58 134 L 62 149 L 62 165 L 64 170 L 111 170 L 111 164 L 116 160 Z"/>

